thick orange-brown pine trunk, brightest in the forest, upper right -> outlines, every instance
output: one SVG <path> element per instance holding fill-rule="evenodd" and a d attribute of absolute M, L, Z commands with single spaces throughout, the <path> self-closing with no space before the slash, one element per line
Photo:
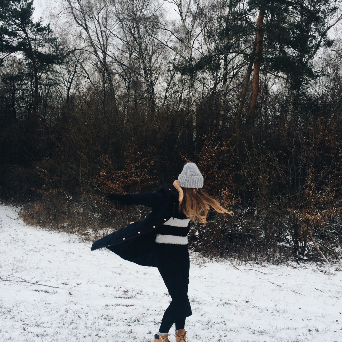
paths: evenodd
<path fill-rule="evenodd" d="M 249 107 L 248 117 L 246 120 L 246 124 L 249 127 L 253 127 L 254 119 L 255 119 L 255 108 L 257 106 L 257 98 L 259 92 L 259 75 L 260 75 L 260 66 L 262 60 L 262 48 L 263 48 L 263 22 L 264 22 L 265 10 L 263 8 L 260 9 L 258 19 L 257 19 L 257 34 L 255 37 L 256 47 L 255 47 L 255 61 L 254 61 L 254 70 L 253 70 L 253 87 L 252 87 L 252 98 L 251 104 Z"/>

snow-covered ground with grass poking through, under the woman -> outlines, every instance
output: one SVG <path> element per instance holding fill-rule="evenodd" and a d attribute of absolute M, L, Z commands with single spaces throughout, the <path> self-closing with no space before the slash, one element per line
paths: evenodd
<path fill-rule="evenodd" d="M 0 237 L 1 342 L 154 341 L 170 301 L 157 269 L 27 226 L 8 206 Z M 341 297 L 342 264 L 235 267 L 192 254 L 188 340 L 341 342 Z"/>

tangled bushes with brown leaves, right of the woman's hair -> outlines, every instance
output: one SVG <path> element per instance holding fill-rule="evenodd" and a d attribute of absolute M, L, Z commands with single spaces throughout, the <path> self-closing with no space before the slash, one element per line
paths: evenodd
<path fill-rule="evenodd" d="M 294 127 L 234 155 L 232 139 L 207 139 L 198 155 L 206 186 L 232 208 L 190 235 L 195 250 L 243 259 L 338 258 L 342 159 L 339 124 Z M 223 185 L 225 188 L 223 188 Z"/>

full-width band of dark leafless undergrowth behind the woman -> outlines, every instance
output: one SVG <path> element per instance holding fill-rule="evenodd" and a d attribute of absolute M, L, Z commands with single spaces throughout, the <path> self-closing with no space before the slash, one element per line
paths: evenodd
<path fill-rule="evenodd" d="M 272 113 L 282 104 L 278 95 L 269 95 Z M 183 109 L 158 110 L 152 118 L 142 106 L 123 124 L 110 99 L 104 105 L 87 90 L 53 113 L 48 125 L 4 121 L 0 195 L 24 204 L 30 223 L 93 239 L 149 211 L 115 208 L 106 193 L 167 186 L 185 161 L 194 161 L 207 192 L 234 215 L 211 213 L 206 227 L 194 225 L 193 250 L 250 261 L 334 260 L 342 241 L 342 121 L 321 110 L 327 101 L 308 96 L 300 122 L 273 115 L 263 125 L 263 114 L 238 139 L 233 121 L 216 132 L 202 118 L 198 131 L 205 134 L 193 141 Z M 205 106 L 199 107 L 204 117 Z M 215 108 L 210 113 L 217 119 Z"/>

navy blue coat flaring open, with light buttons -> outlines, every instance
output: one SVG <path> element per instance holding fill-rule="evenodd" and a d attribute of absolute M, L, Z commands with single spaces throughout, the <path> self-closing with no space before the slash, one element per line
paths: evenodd
<path fill-rule="evenodd" d="M 156 265 L 156 228 L 172 217 L 174 206 L 178 206 L 179 193 L 171 185 L 157 192 L 130 194 L 133 203 L 152 207 L 143 221 L 131 223 L 93 243 L 91 250 L 106 247 L 122 259 L 143 266 Z"/>

